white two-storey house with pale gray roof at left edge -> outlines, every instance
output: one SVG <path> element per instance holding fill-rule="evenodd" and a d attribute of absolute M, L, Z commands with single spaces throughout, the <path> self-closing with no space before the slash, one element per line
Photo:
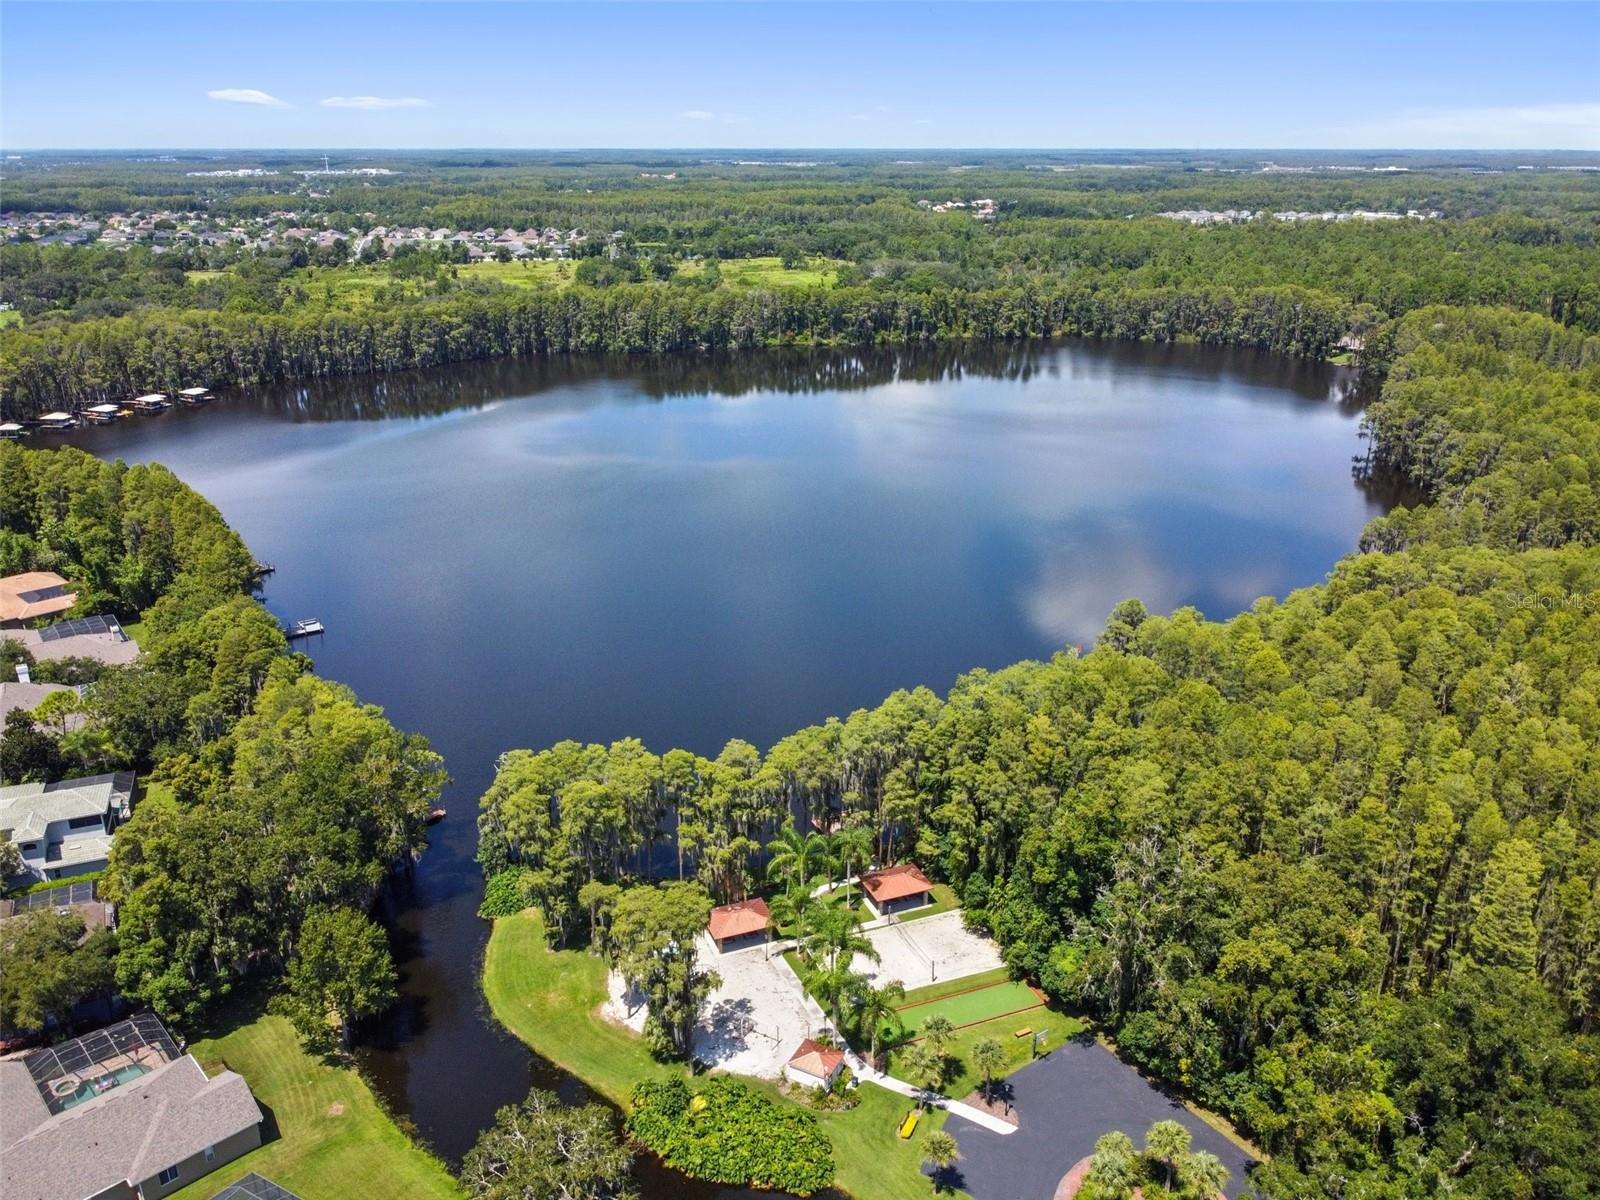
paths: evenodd
<path fill-rule="evenodd" d="M 0 832 L 37 880 L 69 878 L 106 866 L 117 826 L 133 810 L 133 771 L 0 787 Z"/>

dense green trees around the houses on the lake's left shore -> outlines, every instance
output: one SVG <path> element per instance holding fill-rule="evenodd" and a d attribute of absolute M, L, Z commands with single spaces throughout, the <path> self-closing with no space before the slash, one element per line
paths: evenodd
<path fill-rule="evenodd" d="M 101 882 L 114 942 L 74 950 L 70 918 L 48 912 L 8 922 L 0 1029 L 66 1022 L 112 989 L 192 1027 L 242 984 L 283 981 L 278 1003 L 312 1040 L 381 1006 L 394 966 L 366 912 L 426 845 L 442 765 L 288 653 L 251 566 L 165 467 L 0 443 L 0 574 L 58 571 L 77 611 L 142 614 L 130 666 L 34 664 L 34 678 L 86 685 L 62 693 L 74 722 L 18 710 L 0 739 L 6 782 L 142 781 Z M 27 658 L 0 640 L 6 674 Z"/>

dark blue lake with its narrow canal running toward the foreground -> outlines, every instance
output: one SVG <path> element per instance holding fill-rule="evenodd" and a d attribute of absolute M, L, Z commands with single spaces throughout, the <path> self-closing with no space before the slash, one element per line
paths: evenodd
<path fill-rule="evenodd" d="M 210 496 L 277 566 L 270 608 L 326 624 L 317 669 L 443 752 L 450 818 L 395 914 L 405 1000 L 362 1053 L 456 1158 L 531 1083 L 579 1094 L 478 992 L 474 818 L 499 752 L 765 749 L 1090 643 L 1130 595 L 1222 618 L 1317 582 L 1390 499 L 1352 478 L 1352 382 L 1085 342 L 574 358 L 224 397 L 70 442 Z"/>

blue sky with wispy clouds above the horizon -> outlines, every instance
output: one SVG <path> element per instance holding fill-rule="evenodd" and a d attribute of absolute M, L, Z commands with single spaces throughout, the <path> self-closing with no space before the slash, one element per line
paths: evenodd
<path fill-rule="evenodd" d="M 0 2 L 0 144 L 1600 150 L 1600 5 Z"/>

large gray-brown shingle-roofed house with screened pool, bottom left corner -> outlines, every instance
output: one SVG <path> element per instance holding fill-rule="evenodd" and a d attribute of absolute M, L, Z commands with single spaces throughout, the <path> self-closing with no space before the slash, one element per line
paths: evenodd
<path fill-rule="evenodd" d="M 0 1195 L 157 1200 L 261 1146 L 242 1075 L 194 1054 L 51 1114 L 22 1059 L 0 1061 Z"/>

